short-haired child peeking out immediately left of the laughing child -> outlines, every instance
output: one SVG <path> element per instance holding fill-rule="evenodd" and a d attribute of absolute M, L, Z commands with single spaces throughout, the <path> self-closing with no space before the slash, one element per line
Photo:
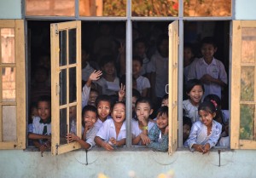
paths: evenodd
<path fill-rule="evenodd" d="M 96 129 L 101 129 L 102 124 L 107 120 L 111 111 L 111 98 L 108 95 L 99 95 L 96 99 L 98 119 L 95 123 Z"/>

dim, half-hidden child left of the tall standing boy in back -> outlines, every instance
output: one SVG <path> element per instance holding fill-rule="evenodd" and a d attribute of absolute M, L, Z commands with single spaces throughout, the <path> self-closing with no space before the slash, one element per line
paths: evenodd
<path fill-rule="evenodd" d="M 194 53 L 191 44 L 184 44 L 183 48 L 183 74 L 184 74 L 184 83 L 188 82 L 188 72 L 190 64 L 194 60 Z"/>

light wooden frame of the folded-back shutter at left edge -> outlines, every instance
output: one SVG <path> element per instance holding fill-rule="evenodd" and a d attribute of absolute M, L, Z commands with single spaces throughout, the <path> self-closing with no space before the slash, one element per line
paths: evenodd
<path fill-rule="evenodd" d="M 3 102 L 0 95 L 0 149 L 26 148 L 26 69 L 25 69 L 25 33 L 24 20 L 0 20 L 0 28 L 15 29 L 15 63 L 0 63 L 0 76 L 2 80 L 2 67 L 15 67 L 15 101 Z M 1 54 L 1 52 L 0 52 Z M 2 93 L 2 82 L 0 91 Z M 2 106 L 16 106 L 16 140 L 3 141 L 3 113 Z"/>

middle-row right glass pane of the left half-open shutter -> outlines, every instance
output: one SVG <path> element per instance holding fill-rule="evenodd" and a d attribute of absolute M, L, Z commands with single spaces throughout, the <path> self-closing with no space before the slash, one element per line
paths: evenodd
<path fill-rule="evenodd" d="M 74 102 L 77 100 L 77 72 L 76 68 L 69 69 L 69 103 Z"/>

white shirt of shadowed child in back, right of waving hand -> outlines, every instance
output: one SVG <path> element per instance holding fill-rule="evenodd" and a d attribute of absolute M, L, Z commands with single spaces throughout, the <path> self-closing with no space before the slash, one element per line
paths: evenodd
<path fill-rule="evenodd" d="M 102 87 L 102 95 L 116 95 L 119 91 L 119 78 L 115 77 L 113 82 L 108 82 L 105 78 L 101 78 L 97 83 Z"/>

